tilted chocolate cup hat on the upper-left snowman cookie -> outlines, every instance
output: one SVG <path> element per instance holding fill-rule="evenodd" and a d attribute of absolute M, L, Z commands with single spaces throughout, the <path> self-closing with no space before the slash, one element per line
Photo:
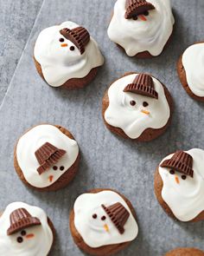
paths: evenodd
<path fill-rule="evenodd" d="M 90 41 L 90 35 L 88 30 L 83 27 L 78 27 L 73 30 L 67 28 L 60 31 L 62 36 L 65 36 L 67 40 L 70 40 L 80 50 L 82 55 L 85 52 L 85 46 Z"/>

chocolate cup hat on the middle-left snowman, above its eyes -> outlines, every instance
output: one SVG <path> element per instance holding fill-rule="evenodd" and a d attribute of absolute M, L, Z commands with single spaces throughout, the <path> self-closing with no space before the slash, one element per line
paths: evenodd
<path fill-rule="evenodd" d="M 49 142 L 43 144 L 41 148 L 35 151 L 36 159 L 40 164 L 40 167 L 37 168 L 38 173 L 41 175 L 47 171 L 48 168 L 58 162 L 64 154 L 66 154 L 64 149 L 56 148 Z"/>

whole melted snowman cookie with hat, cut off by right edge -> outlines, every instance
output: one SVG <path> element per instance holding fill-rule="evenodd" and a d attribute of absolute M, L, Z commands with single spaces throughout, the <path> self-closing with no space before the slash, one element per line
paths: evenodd
<path fill-rule="evenodd" d="M 156 169 L 157 200 L 171 217 L 181 221 L 204 220 L 204 150 L 176 151 Z"/>

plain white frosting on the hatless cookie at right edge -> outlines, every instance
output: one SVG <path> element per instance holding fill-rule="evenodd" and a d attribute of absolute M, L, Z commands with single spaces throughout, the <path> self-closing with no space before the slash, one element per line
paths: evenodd
<path fill-rule="evenodd" d="M 199 97 L 204 97 L 204 43 L 188 47 L 182 55 L 188 87 Z"/>

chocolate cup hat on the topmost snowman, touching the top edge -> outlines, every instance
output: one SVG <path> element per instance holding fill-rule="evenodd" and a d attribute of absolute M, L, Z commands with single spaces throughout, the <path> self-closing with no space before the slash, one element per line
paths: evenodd
<path fill-rule="evenodd" d="M 145 13 L 148 10 L 155 9 L 155 6 L 145 0 L 126 0 L 125 9 L 126 12 L 124 17 L 126 19 L 131 19 Z"/>

